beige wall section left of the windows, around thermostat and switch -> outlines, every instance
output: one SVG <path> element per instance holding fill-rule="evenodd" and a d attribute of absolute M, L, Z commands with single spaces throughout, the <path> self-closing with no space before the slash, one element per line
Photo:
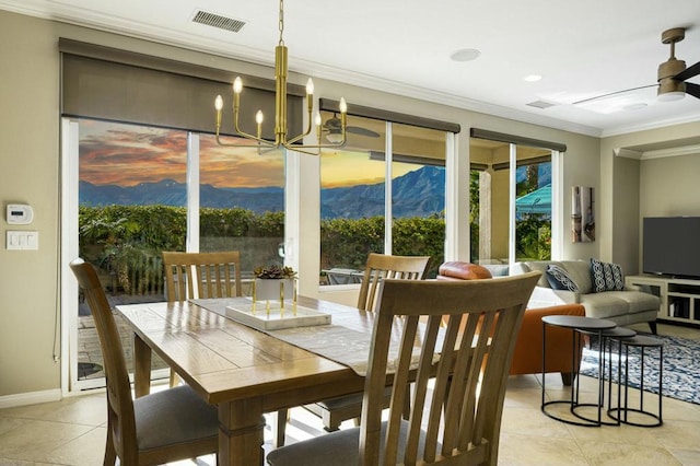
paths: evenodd
<path fill-rule="evenodd" d="M 0 13 L 0 395 L 59 386 L 58 54 L 51 23 Z M 38 251 L 4 248 L 5 206 L 28 203 Z"/>

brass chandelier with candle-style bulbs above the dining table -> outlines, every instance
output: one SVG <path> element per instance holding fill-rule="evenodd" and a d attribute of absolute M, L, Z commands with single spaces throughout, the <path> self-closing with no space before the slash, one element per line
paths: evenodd
<path fill-rule="evenodd" d="M 320 135 L 324 130 L 322 126 L 320 113 L 316 113 L 315 118 L 312 118 L 313 107 L 314 107 L 314 82 L 311 78 L 306 83 L 306 109 L 307 109 L 307 125 L 306 130 L 298 136 L 288 137 L 287 135 L 287 46 L 284 45 L 284 39 L 282 35 L 284 33 L 284 0 L 280 0 L 280 12 L 279 12 L 279 30 L 280 30 L 280 39 L 275 47 L 275 141 L 269 141 L 267 139 L 262 139 L 262 110 L 258 110 L 255 115 L 255 121 L 257 124 L 256 135 L 250 135 L 245 131 L 242 131 L 238 127 L 238 109 L 241 107 L 241 93 L 243 91 L 243 81 L 241 77 L 236 77 L 233 82 L 233 127 L 238 137 L 254 140 L 258 143 L 258 152 L 261 151 L 262 148 L 268 150 L 278 149 L 283 147 L 285 149 L 304 152 L 313 155 L 317 155 L 323 148 L 338 148 L 345 145 L 346 143 L 346 120 L 348 113 L 348 105 L 345 98 L 340 98 L 340 137 L 334 135 L 331 142 L 323 143 L 320 142 Z M 214 101 L 214 108 L 217 109 L 217 143 L 219 145 L 233 145 L 240 147 L 243 144 L 236 143 L 224 143 L 219 139 L 219 132 L 221 130 L 221 115 L 223 110 L 223 97 L 221 95 L 217 95 L 217 100 Z M 303 144 L 298 143 L 306 136 L 311 135 L 313 127 L 316 128 L 316 143 L 315 144 Z M 336 131 L 337 132 L 337 131 Z"/>

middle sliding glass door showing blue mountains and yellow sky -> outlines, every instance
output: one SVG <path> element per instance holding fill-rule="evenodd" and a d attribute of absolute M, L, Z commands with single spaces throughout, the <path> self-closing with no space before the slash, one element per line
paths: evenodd
<path fill-rule="evenodd" d="M 331 117 L 327 115 L 326 118 Z M 320 159 L 323 286 L 359 283 L 369 253 L 444 258 L 446 132 L 357 116 Z"/>

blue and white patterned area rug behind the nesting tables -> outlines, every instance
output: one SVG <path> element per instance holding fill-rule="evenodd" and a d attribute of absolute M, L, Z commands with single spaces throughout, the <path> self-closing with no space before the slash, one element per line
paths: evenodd
<path fill-rule="evenodd" d="M 664 342 L 664 366 L 662 395 L 682 401 L 700 405 L 700 341 L 687 338 L 640 333 Z M 625 351 L 622 351 L 625 353 Z M 612 351 L 612 380 L 617 381 L 617 343 Z M 629 350 L 629 386 L 640 387 L 640 351 L 638 348 Z M 625 360 L 622 360 L 625 371 Z M 592 341 L 590 348 L 584 348 L 581 362 L 583 375 L 597 376 L 598 348 Z M 606 376 L 607 380 L 607 376 Z M 658 393 L 658 350 L 648 348 L 644 351 L 644 391 Z"/>

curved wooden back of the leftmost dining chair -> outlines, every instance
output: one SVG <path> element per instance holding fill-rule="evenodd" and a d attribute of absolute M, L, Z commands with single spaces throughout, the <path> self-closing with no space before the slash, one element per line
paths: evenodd
<path fill-rule="evenodd" d="M 136 465 L 139 462 L 136 418 L 119 331 L 94 267 L 75 259 L 70 268 L 83 290 L 100 337 L 107 382 L 107 442 L 113 441 L 121 464 Z"/>

